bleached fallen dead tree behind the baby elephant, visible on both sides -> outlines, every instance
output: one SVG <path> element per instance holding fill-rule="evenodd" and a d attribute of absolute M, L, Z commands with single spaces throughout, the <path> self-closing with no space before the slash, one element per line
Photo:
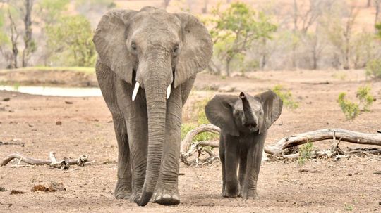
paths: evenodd
<path fill-rule="evenodd" d="M 205 146 L 211 148 L 219 147 L 219 141 L 197 141 L 193 142 L 193 138 L 202 132 L 214 132 L 219 133 L 219 127 L 213 124 L 202 124 L 200 127 L 196 127 L 186 134 L 186 137 L 181 141 L 181 162 L 187 165 L 200 164 L 200 155 L 205 152 L 209 154 L 203 162 L 210 162 L 211 159 L 217 160 L 217 156 L 210 149 L 205 149 Z M 339 138 L 339 140 L 337 140 Z M 265 146 L 264 153 L 262 155 L 262 161 L 267 160 L 267 154 L 270 155 L 281 155 L 280 158 L 283 159 L 296 159 L 298 158 L 298 153 L 291 153 L 284 155 L 282 151 L 287 148 L 293 148 L 304 143 L 313 143 L 317 141 L 333 140 L 332 148 L 330 150 L 316 150 L 313 153 L 313 157 L 335 157 L 340 159 L 351 154 L 362 154 L 362 155 L 380 155 L 381 149 L 377 148 L 356 148 L 344 152 L 339 148 L 339 143 L 341 141 L 364 144 L 364 145 L 377 145 L 381 146 L 381 134 L 365 134 L 357 131 L 349 131 L 346 129 L 320 129 L 316 131 L 308 131 L 302 134 L 286 136 L 275 143 L 273 146 Z M 297 149 L 296 149 L 297 150 Z M 198 152 L 198 156 L 195 160 L 188 160 L 194 153 Z"/>

